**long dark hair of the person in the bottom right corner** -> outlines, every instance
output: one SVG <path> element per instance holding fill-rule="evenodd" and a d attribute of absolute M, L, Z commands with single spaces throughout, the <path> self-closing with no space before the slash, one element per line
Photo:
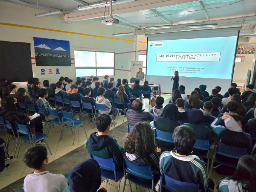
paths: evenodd
<path fill-rule="evenodd" d="M 239 183 L 243 191 L 255 192 L 256 190 L 256 160 L 250 155 L 244 155 L 240 157 L 236 172 L 229 177 L 229 179 L 237 181 L 237 187 L 239 189 Z M 240 190 L 239 190 L 240 191 Z"/>

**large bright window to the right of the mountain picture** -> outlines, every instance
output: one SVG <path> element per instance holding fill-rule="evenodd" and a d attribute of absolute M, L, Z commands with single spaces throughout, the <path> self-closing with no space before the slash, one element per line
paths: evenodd
<path fill-rule="evenodd" d="M 114 52 L 75 50 L 76 76 L 114 76 Z"/>

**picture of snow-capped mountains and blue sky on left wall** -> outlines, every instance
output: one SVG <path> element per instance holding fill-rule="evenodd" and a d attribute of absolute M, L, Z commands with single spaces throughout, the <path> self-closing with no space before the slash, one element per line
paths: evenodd
<path fill-rule="evenodd" d="M 34 49 L 37 66 L 71 66 L 69 41 L 34 37 Z"/>

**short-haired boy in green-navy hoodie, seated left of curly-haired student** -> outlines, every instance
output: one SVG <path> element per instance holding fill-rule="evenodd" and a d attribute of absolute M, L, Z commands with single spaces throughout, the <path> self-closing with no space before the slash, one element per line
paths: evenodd
<path fill-rule="evenodd" d="M 100 90 L 103 90 L 103 87 L 101 87 Z M 123 148 L 117 144 L 117 141 L 113 139 L 112 136 L 108 135 L 111 123 L 112 119 L 108 114 L 99 114 L 95 119 L 98 133 L 93 132 L 90 134 L 90 137 L 86 141 L 86 148 L 89 154 L 96 157 L 103 159 L 113 158 L 117 169 L 122 170 Z"/>

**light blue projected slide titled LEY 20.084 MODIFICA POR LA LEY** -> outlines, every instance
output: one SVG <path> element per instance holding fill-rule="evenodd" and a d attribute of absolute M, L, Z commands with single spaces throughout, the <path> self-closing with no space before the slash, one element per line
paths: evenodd
<path fill-rule="evenodd" d="M 147 76 L 231 79 L 237 36 L 148 41 Z"/>

